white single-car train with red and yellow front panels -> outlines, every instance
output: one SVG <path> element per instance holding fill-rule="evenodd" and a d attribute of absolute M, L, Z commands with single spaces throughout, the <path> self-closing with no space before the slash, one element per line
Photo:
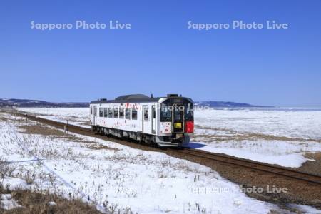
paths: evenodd
<path fill-rule="evenodd" d="M 90 103 L 91 129 L 160 147 L 188 146 L 194 132 L 193 105 L 191 98 L 178 94 L 101 98 Z"/>

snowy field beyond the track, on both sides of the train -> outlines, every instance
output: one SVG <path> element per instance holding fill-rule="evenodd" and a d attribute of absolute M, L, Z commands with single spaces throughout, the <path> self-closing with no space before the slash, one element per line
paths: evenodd
<path fill-rule="evenodd" d="M 88 108 L 20 108 L 43 118 L 89 126 Z M 297 168 L 321 152 L 321 109 L 195 110 L 193 148 Z M 313 160 L 310 160 L 313 161 Z"/>

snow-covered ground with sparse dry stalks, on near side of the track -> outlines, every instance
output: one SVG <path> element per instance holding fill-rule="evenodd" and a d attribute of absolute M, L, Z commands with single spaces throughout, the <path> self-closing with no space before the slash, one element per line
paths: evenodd
<path fill-rule="evenodd" d="M 30 127 L 39 134 L 28 133 Z M 4 113 L 0 113 L 0 128 L 1 161 L 13 161 L 0 181 L 11 190 L 50 190 L 67 198 L 77 195 L 99 210 L 116 213 L 279 210 L 276 205 L 248 198 L 238 185 L 208 167 L 164 153 L 73 133 L 64 136 L 55 128 Z M 0 196 L 2 208 L 19 206 L 11 195 Z"/>

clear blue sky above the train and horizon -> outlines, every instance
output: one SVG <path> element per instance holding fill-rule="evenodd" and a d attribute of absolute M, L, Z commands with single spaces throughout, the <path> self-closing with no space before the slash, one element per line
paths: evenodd
<path fill-rule="evenodd" d="M 131 29 L 31 29 L 76 20 Z M 233 20 L 289 29 L 188 29 Z M 91 101 L 182 93 L 195 101 L 321 107 L 321 1 L 0 3 L 0 98 Z"/>

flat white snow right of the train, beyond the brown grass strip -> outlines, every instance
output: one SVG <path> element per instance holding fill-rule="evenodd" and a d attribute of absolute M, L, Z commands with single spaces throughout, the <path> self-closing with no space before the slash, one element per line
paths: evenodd
<path fill-rule="evenodd" d="M 203 127 L 321 140 L 321 108 L 212 108 L 195 111 Z"/>

